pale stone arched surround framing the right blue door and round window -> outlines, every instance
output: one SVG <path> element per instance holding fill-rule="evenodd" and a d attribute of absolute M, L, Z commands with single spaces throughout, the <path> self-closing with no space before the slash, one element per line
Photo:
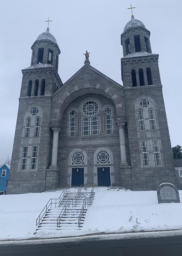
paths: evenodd
<path fill-rule="evenodd" d="M 114 176 L 114 163 L 113 163 L 113 153 L 110 149 L 107 147 L 99 147 L 95 152 L 94 152 L 94 186 L 97 186 L 97 167 L 100 167 L 102 165 L 97 164 L 97 154 L 100 151 L 106 151 L 110 155 L 110 163 L 109 164 L 104 164 L 103 166 L 109 166 L 110 171 L 111 171 L 111 186 L 115 183 L 115 176 Z"/>

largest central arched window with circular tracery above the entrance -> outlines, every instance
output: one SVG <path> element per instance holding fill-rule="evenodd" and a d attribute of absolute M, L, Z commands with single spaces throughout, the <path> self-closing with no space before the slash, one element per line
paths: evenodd
<path fill-rule="evenodd" d="M 99 106 L 95 101 L 86 101 L 82 106 L 82 135 L 99 134 Z"/>

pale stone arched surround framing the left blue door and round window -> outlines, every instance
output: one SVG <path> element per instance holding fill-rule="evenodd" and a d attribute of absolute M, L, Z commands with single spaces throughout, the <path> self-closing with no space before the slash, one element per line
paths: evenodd
<path fill-rule="evenodd" d="M 72 165 L 72 155 L 76 152 L 81 152 L 84 155 L 84 165 Z M 84 184 L 87 184 L 88 181 L 88 170 L 87 170 L 87 154 L 83 149 L 74 149 L 70 152 L 68 157 L 68 170 L 67 170 L 67 186 L 71 187 L 71 168 L 76 168 L 77 166 L 84 168 Z"/>

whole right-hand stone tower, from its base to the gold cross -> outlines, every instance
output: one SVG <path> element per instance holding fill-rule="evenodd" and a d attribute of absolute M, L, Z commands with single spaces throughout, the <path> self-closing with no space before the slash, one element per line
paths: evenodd
<path fill-rule="evenodd" d="M 158 54 L 152 53 L 150 34 L 133 13 L 121 34 L 133 190 L 156 190 L 162 182 L 177 186 Z"/>

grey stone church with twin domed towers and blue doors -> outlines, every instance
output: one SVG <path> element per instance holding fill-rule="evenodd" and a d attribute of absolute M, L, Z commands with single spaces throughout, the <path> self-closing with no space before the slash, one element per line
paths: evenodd
<path fill-rule="evenodd" d="M 38 36 L 31 66 L 22 69 L 7 194 L 81 185 L 156 190 L 162 182 L 181 189 L 158 54 L 133 15 L 121 45 L 123 86 L 92 67 L 87 51 L 84 66 L 63 84 L 49 26 Z"/>

